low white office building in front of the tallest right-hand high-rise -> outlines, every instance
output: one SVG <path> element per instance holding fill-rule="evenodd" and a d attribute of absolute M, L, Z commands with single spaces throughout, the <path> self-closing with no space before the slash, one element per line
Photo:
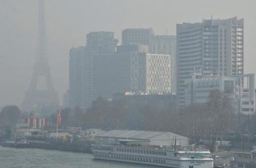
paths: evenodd
<path fill-rule="evenodd" d="M 236 113 L 253 114 L 255 112 L 254 74 L 211 78 L 204 78 L 202 75 L 194 74 L 192 79 L 186 80 L 186 105 L 207 102 L 212 90 L 220 90 L 225 94 L 229 94 Z"/>

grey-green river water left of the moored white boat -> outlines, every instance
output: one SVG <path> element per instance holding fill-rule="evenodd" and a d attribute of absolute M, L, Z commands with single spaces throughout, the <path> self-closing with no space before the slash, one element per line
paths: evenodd
<path fill-rule="evenodd" d="M 0 168 L 159 168 L 93 159 L 92 154 L 0 147 Z"/>

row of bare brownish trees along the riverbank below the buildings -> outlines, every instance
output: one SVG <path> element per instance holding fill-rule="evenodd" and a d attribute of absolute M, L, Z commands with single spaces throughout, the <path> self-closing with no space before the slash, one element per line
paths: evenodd
<path fill-rule="evenodd" d="M 131 107 L 124 99 L 106 100 L 98 97 L 88 109 L 74 107 L 62 109 L 62 125 L 82 128 L 130 129 L 131 119 L 138 121 L 138 130 L 170 131 L 195 139 L 212 139 L 212 135 L 222 135 L 234 130 L 234 109 L 232 99 L 219 90 L 210 92 L 208 101 L 193 104 L 180 109 L 162 110 L 150 104 L 137 107 L 137 115 L 131 113 Z M 20 117 L 24 117 L 15 105 L 8 105 L 0 112 L 0 129 L 15 125 Z M 251 125 L 256 125 L 256 115 Z M 52 125 L 56 124 L 56 113 L 47 117 Z M 2 129 L 3 130 L 3 129 Z M 217 136 L 215 136 L 217 137 Z"/>

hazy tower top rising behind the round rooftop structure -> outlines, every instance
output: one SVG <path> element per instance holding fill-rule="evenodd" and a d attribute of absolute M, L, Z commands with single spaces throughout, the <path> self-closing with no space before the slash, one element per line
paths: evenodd
<path fill-rule="evenodd" d="M 142 44 L 149 45 L 149 39 L 154 35 L 152 28 L 149 29 L 124 29 L 122 31 L 122 45 Z"/>

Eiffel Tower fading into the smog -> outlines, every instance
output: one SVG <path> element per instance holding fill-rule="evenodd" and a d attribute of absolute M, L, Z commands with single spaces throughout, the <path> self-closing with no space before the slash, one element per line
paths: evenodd
<path fill-rule="evenodd" d="M 50 66 L 46 52 L 46 31 L 44 18 L 44 0 L 39 0 L 38 12 L 38 41 L 36 49 L 36 63 L 33 68 L 32 80 L 28 91 L 25 93 L 25 99 L 22 103 L 22 110 L 30 111 L 34 105 L 58 106 L 58 93 L 54 89 Z M 46 90 L 38 90 L 38 77 L 44 76 Z"/>

